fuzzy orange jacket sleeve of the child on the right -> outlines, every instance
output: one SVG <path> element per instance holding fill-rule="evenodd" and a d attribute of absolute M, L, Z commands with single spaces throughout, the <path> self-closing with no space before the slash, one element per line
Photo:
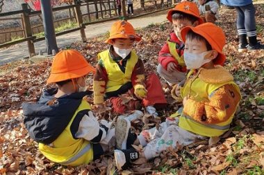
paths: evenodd
<path fill-rule="evenodd" d="M 241 100 L 240 92 L 226 84 L 208 95 L 208 101 L 186 100 L 183 113 L 202 123 L 217 124 L 228 120 Z"/>

